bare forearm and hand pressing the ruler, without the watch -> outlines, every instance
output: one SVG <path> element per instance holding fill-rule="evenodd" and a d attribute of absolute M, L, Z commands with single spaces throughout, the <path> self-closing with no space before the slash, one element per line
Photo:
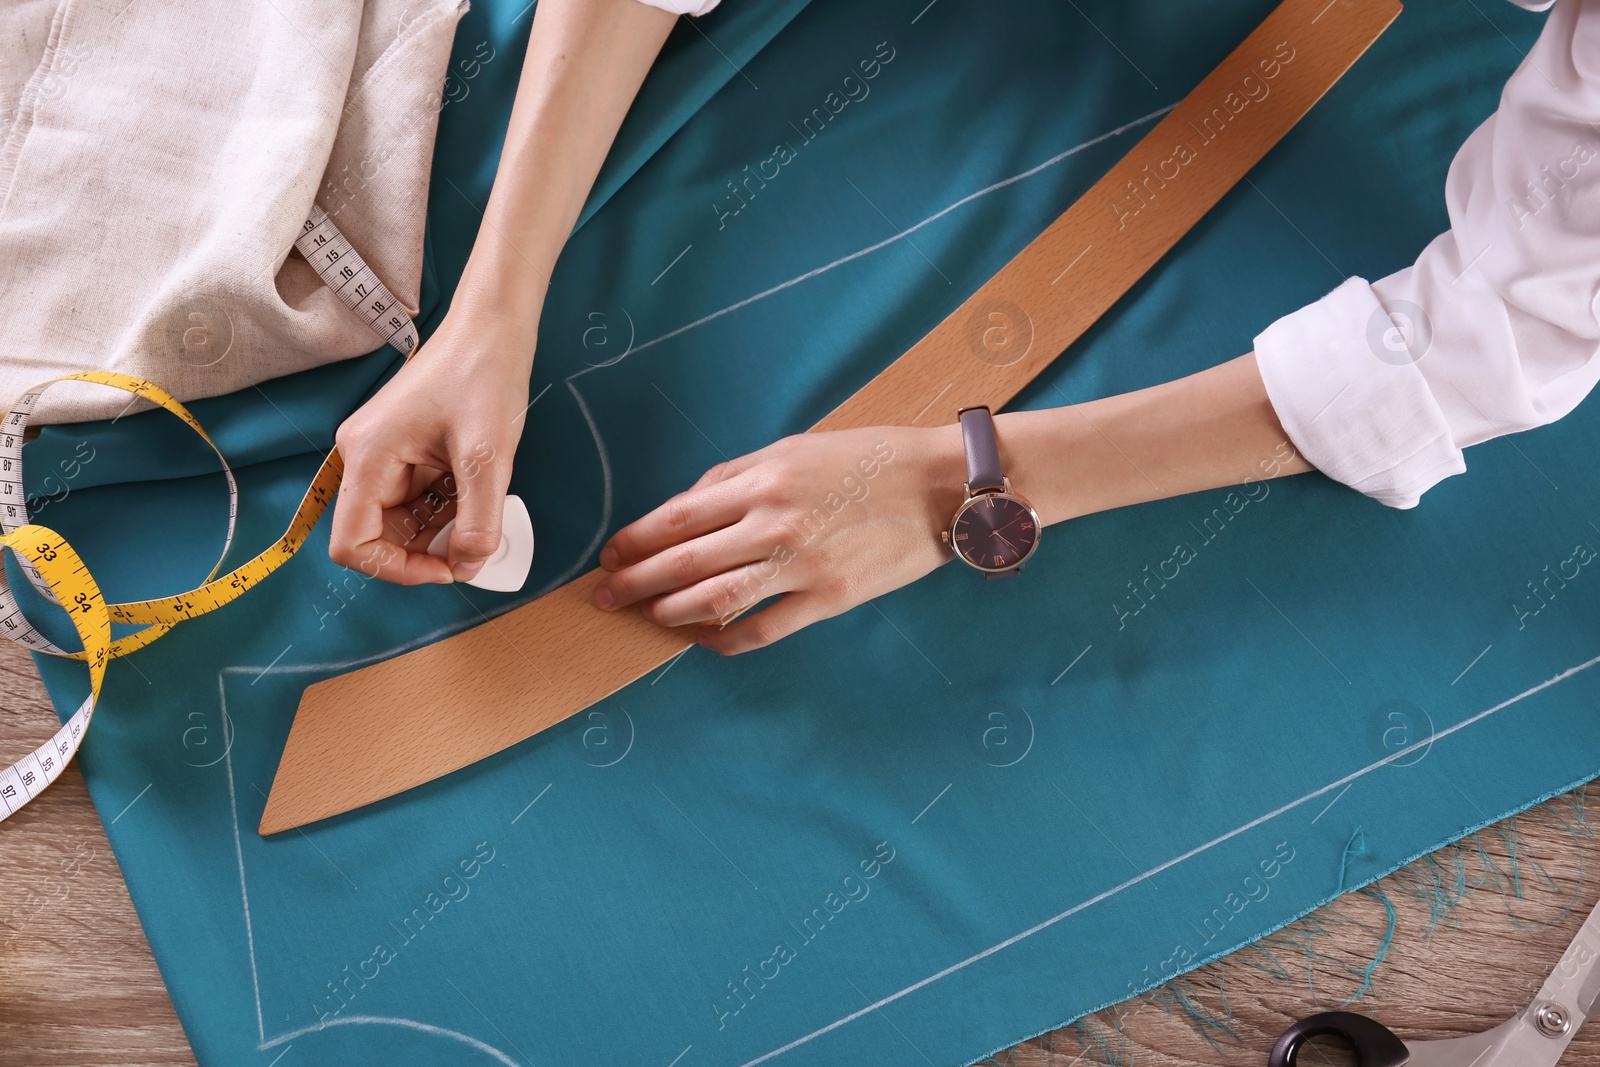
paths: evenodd
<path fill-rule="evenodd" d="M 995 424 L 1002 466 L 1045 523 L 1310 469 L 1254 355 Z M 965 478 L 954 421 L 786 437 L 613 534 L 594 603 L 640 605 L 661 625 L 714 622 L 699 641 L 723 654 L 770 645 L 947 563 L 939 534 Z M 773 593 L 774 605 L 731 621 Z"/>

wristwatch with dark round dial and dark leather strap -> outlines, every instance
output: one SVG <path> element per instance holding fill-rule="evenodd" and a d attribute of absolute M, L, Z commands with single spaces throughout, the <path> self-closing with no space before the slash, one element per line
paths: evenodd
<path fill-rule="evenodd" d="M 966 446 L 966 499 L 950 528 L 947 544 L 968 566 L 986 577 L 1008 577 L 1022 569 L 1038 547 L 1038 512 L 1011 491 L 1011 480 L 1000 470 L 1000 445 L 989 408 L 962 408 L 962 443 Z"/>

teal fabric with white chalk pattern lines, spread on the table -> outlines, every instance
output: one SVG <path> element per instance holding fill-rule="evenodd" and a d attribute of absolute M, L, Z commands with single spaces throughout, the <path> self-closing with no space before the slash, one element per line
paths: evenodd
<path fill-rule="evenodd" d="M 810 426 L 1272 3 L 1078 6 L 728 0 L 680 27 L 546 304 L 514 485 L 528 592 L 363 584 L 325 522 L 110 667 L 80 760 L 202 1064 L 966 1064 L 1600 771 L 1600 579 L 1570 563 L 1600 544 L 1590 403 L 1470 450 L 1414 512 L 1304 475 L 1090 517 L 1019 581 L 949 566 L 757 654 L 691 649 L 443 781 L 254 833 L 306 685 L 525 603 Z M 496 59 L 442 115 L 424 326 L 488 194 L 520 8 L 480 2 L 458 37 Z M 1411 5 L 1018 406 L 1210 366 L 1410 262 L 1539 26 Z M 779 141 L 792 158 L 731 200 Z M 195 405 L 240 464 L 240 552 L 392 368 Z M 202 574 L 224 498 L 200 448 L 158 413 L 62 427 L 30 477 L 85 442 L 42 522 L 117 598 Z M 1150 582 L 1176 545 L 1194 558 Z M 82 669 L 40 667 L 70 710 Z"/>

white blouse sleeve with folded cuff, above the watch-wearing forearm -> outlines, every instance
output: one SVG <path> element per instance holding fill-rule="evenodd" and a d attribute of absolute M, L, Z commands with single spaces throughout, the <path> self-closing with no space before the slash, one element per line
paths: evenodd
<path fill-rule="evenodd" d="M 1450 230 L 1414 266 L 1349 278 L 1256 338 L 1301 454 L 1392 507 L 1600 379 L 1600 0 L 1558 0 L 1445 203 Z"/>

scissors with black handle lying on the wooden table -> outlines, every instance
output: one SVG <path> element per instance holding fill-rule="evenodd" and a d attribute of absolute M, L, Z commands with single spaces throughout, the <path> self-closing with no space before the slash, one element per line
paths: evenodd
<path fill-rule="evenodd" d="M 1384 1024 L 1352 1011 L 1307 1016 L 1283 1032 L 1267 1067 L 1294 1067 L 1314 1037 L 1336 1035 L 1360 1067 L 1554 1067 L 1600 998 L 1600 904 L 1566 945 L 1526 1008 L 1491 1030 L 1443 1041 L 1402 1041 Z"/>

